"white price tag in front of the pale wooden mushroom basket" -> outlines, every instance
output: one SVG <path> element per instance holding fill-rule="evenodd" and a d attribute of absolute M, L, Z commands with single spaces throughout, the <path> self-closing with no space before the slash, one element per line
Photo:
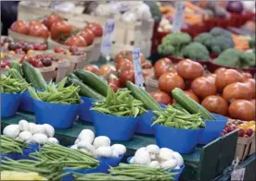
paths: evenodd
<path fill-rule="evenodd" d="M 111 50 L 112 45 L 112 34 L 115 28 L 115 21 L 113 18 L 109 18 L 104 26 L 103 31 L 103 37 L 102 37 L 102 43 L 101 43 L 101 54 L 107 58 L 107 60 L 110 59 L 109 53 Z"/>

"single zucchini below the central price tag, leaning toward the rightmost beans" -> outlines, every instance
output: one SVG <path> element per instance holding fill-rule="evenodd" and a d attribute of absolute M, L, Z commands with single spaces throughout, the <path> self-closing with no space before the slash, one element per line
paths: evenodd
<path fill-rule="evenodd" d="M 128 88 L 128 90 L 131 90 L 133 92 L 133 95 L 136 99 L 140 100 L 142 103 L 145 104 L 148 110 L 162 110 L 160 104 L 157 103 L 146 90 L 143 90 L 137 85 L 134 85 L 134 83 L 131 81 L 126 81 L 126 87 Z"/>

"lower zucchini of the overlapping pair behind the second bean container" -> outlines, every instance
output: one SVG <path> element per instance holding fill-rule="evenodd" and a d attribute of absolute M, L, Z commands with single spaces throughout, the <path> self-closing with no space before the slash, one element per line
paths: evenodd
<path fill-rule="evenodd" d="M 79 95 L 88 97 L 88 98 L 94 98 L 96 100 L 104 100 L 104 97 L 96 92 L 96 90 L 93 90 L 92 88 L 86 86 L 83 84 L 82 81 L 79 81 L 76 78 L 68 78 L 69 82 L 73 84 L 74 86 L 79 86 L 80 91 Z"/>

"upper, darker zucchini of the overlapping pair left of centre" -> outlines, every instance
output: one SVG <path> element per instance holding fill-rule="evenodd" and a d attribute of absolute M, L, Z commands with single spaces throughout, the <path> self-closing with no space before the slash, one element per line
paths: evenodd
<path fill-rule="evenodd" d="M 75 70 L 74 74 L 78 78 L 80 78 L 84 84 L 90 86 L 98 93 L 102 94 L 105 97 L 108 95 L 109 85 L 106 81 L 98 77 L 96 74 L 83 69 Z"/>

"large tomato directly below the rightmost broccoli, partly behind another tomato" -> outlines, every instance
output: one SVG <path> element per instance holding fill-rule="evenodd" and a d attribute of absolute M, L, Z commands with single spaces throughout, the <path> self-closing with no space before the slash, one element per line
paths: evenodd
<path fill-rule="evenodd" d="M 222 91 L 228 84 L 234 82 L 242 82 L 242 75 L 235 69 L 226 69 L 223 72 L 217 74 L 215 85 L 217 90 Z"/>

